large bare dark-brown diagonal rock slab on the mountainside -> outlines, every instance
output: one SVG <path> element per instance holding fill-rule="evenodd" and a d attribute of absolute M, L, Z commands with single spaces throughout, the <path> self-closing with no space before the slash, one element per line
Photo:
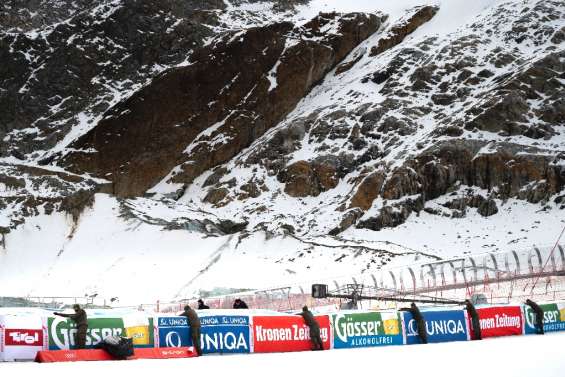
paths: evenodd
<path fill-rule="evenodd" d="M 175 166 L 170 179 L 190 184 L 277 125 L 380 24 L 334 13 L 222 36 L 112 108 L 62 163 L 111 179 L 119 196 L 143 195 Z"/>

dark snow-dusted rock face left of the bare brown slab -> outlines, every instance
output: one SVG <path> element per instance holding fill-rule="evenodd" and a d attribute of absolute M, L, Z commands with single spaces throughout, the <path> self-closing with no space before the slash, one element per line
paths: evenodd
<path fill-rule="evenodd" d="M 81 212 L 88 202 L 85 185 L 91 188 L 90 197 L 108 191 L 108 186 L 88 183 L 89 174 L 78 185 L 76 175 L 67 174 L 75 178 L 65 181 L 58 195 L 26 190 L 23 183 L 33 171 L 36 185 L 51 186 L 50 173 L 37 168 L 61 171 L 47 164 L 94 127 L 108 108 L 160 72 L 186 64 L 195 46 L 241 27 L 236 20 L 257 26 L 284 19 L 294 9 L 293 2 L 254 4 L 261 7 L 244 11 L 247 2 L 228 7 L 218 0 L 4 2 L 0 11 L 0 182 L 6 188 L 0 198 L 2 233 L 37 213 L 45 202 L 55 210 Z M 105 178 L 96 181 L 103 183 Z M 19 190 L 18 195 L 13 195 L 14 190 Z M 63 197 L 71 196 L 80 200 L 72 200 L 76 204 L 71 206 L 62 203 Z"/>

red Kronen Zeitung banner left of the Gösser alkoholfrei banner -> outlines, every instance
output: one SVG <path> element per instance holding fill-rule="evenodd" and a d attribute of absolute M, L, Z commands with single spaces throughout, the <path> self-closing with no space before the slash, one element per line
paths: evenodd
<path fill-rule="evenodd" d="M 324 349 L 330 348 L 330 319 L 317 316 Z M 310 329 L 300 316 L 253 317 L 254 352 L 293 352 L 312 349 Z"/>

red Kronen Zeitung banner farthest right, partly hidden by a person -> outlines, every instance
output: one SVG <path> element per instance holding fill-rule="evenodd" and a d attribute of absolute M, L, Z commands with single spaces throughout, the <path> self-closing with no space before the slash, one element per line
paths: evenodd
<path fill-rule="evenodd" d="M 477 313 L 483 338 L 523 334 L 524 321 L 520 306 L 477 308 Z"/>

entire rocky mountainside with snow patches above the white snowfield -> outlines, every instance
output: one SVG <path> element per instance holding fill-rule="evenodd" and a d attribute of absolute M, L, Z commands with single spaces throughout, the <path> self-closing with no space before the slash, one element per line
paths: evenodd
<path fill-rule="evenodd" d="M 10 213 L 37 207 L 14 199 L 22 175 L 74 182 L 59 204 L 151 196 L 300 234 L 563 206 L 562 2 L 449 34 L 425 32 L 441 4 L 298 21 L 305 1 L 68 3 L 0 8 Z"/>

